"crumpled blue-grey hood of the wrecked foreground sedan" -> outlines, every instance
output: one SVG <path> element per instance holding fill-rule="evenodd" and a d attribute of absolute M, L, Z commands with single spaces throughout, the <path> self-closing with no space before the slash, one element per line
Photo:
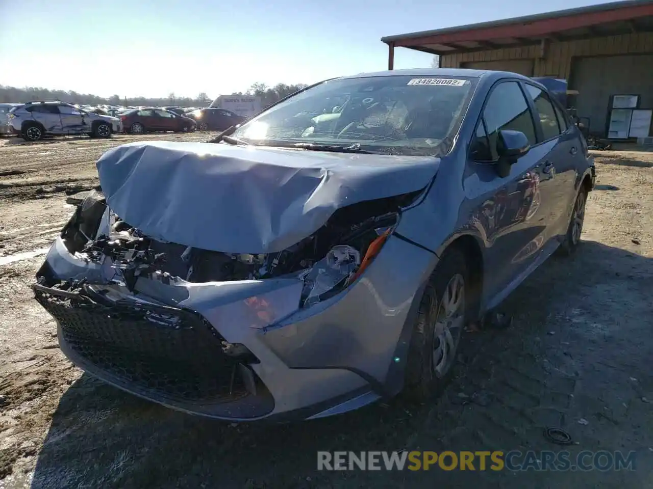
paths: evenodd
<path fill-rule="evenodd" d="M 108 205 L 161 241 L 267 254 L 298 243 L 339 208 L 428 185 L 439 159 L 214 143 L 135 142 L 97 161 Z"/>

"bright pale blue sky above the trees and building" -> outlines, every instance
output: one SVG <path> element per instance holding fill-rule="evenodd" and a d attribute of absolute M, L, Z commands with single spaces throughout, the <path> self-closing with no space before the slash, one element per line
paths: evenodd
<path fill-rule="evenodd" d="M 0 0 L 0 85 L 195 97 L 387 69 L 381 37 L 591 0 Z M 432 55 L 396 48 L 394 68 Z"/>

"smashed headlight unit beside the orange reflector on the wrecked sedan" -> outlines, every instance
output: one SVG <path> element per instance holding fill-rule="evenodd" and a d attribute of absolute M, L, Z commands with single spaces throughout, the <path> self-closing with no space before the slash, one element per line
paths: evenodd
<path fill-rule="evenodd" d="M 334 289 L 340 282 L 349 277 L 360 265 L 360 253 L 346 244 L 338 244 L 329 250 L 327 256 L 321 259 L 313 268 L 304 274 L 305 305 L 320 301 L 320 296 Z"/>

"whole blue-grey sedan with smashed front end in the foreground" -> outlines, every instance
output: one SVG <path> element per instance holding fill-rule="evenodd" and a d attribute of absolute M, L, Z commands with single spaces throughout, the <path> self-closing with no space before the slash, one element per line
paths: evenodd
<path fill-rule="evenodd" d="M 485 113 L 497 83 L 523 111 Z M 464 325 L 579 244 L 594 167 L 561 117 L 518 75 L 383 72 L 313 85 L 213 143 L 117 147 L 35 297 L 72 362 L 188 413 L 311 419 L 428 398 Z M 565 145 L 581 151 L 558 158 L 554 200 L 543 162 Z"/>

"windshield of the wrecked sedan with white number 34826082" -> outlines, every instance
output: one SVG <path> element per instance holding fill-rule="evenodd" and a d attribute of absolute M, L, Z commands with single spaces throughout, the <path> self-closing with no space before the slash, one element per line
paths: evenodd
<path fill-rule="evenodd" d="M 264 111 L 232 136 L 255 145 L 312 143 L 386 155 L 441 156 L 451 148 L 476 80 L 331 80 Z"/>

